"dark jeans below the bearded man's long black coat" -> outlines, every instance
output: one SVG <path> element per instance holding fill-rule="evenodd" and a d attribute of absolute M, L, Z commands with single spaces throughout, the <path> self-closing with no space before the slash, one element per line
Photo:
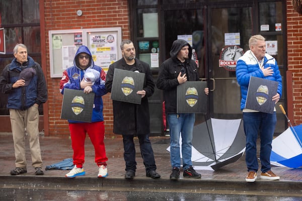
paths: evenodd
<path fill-rule="evenodd" d="M 137 135 L 139 140 L 140 154 L 143 159 L 143 164 L 146 168 L 146 173 L 151 170 L 156 170 L 154 153 L 149 140 L 149 135 Z M 124 144 L 124 160 L 126 163 L 126 171 L 136 170 L 135 161 L 135 145 L 133 142 L 134 135 L 123 135 Z"/>

